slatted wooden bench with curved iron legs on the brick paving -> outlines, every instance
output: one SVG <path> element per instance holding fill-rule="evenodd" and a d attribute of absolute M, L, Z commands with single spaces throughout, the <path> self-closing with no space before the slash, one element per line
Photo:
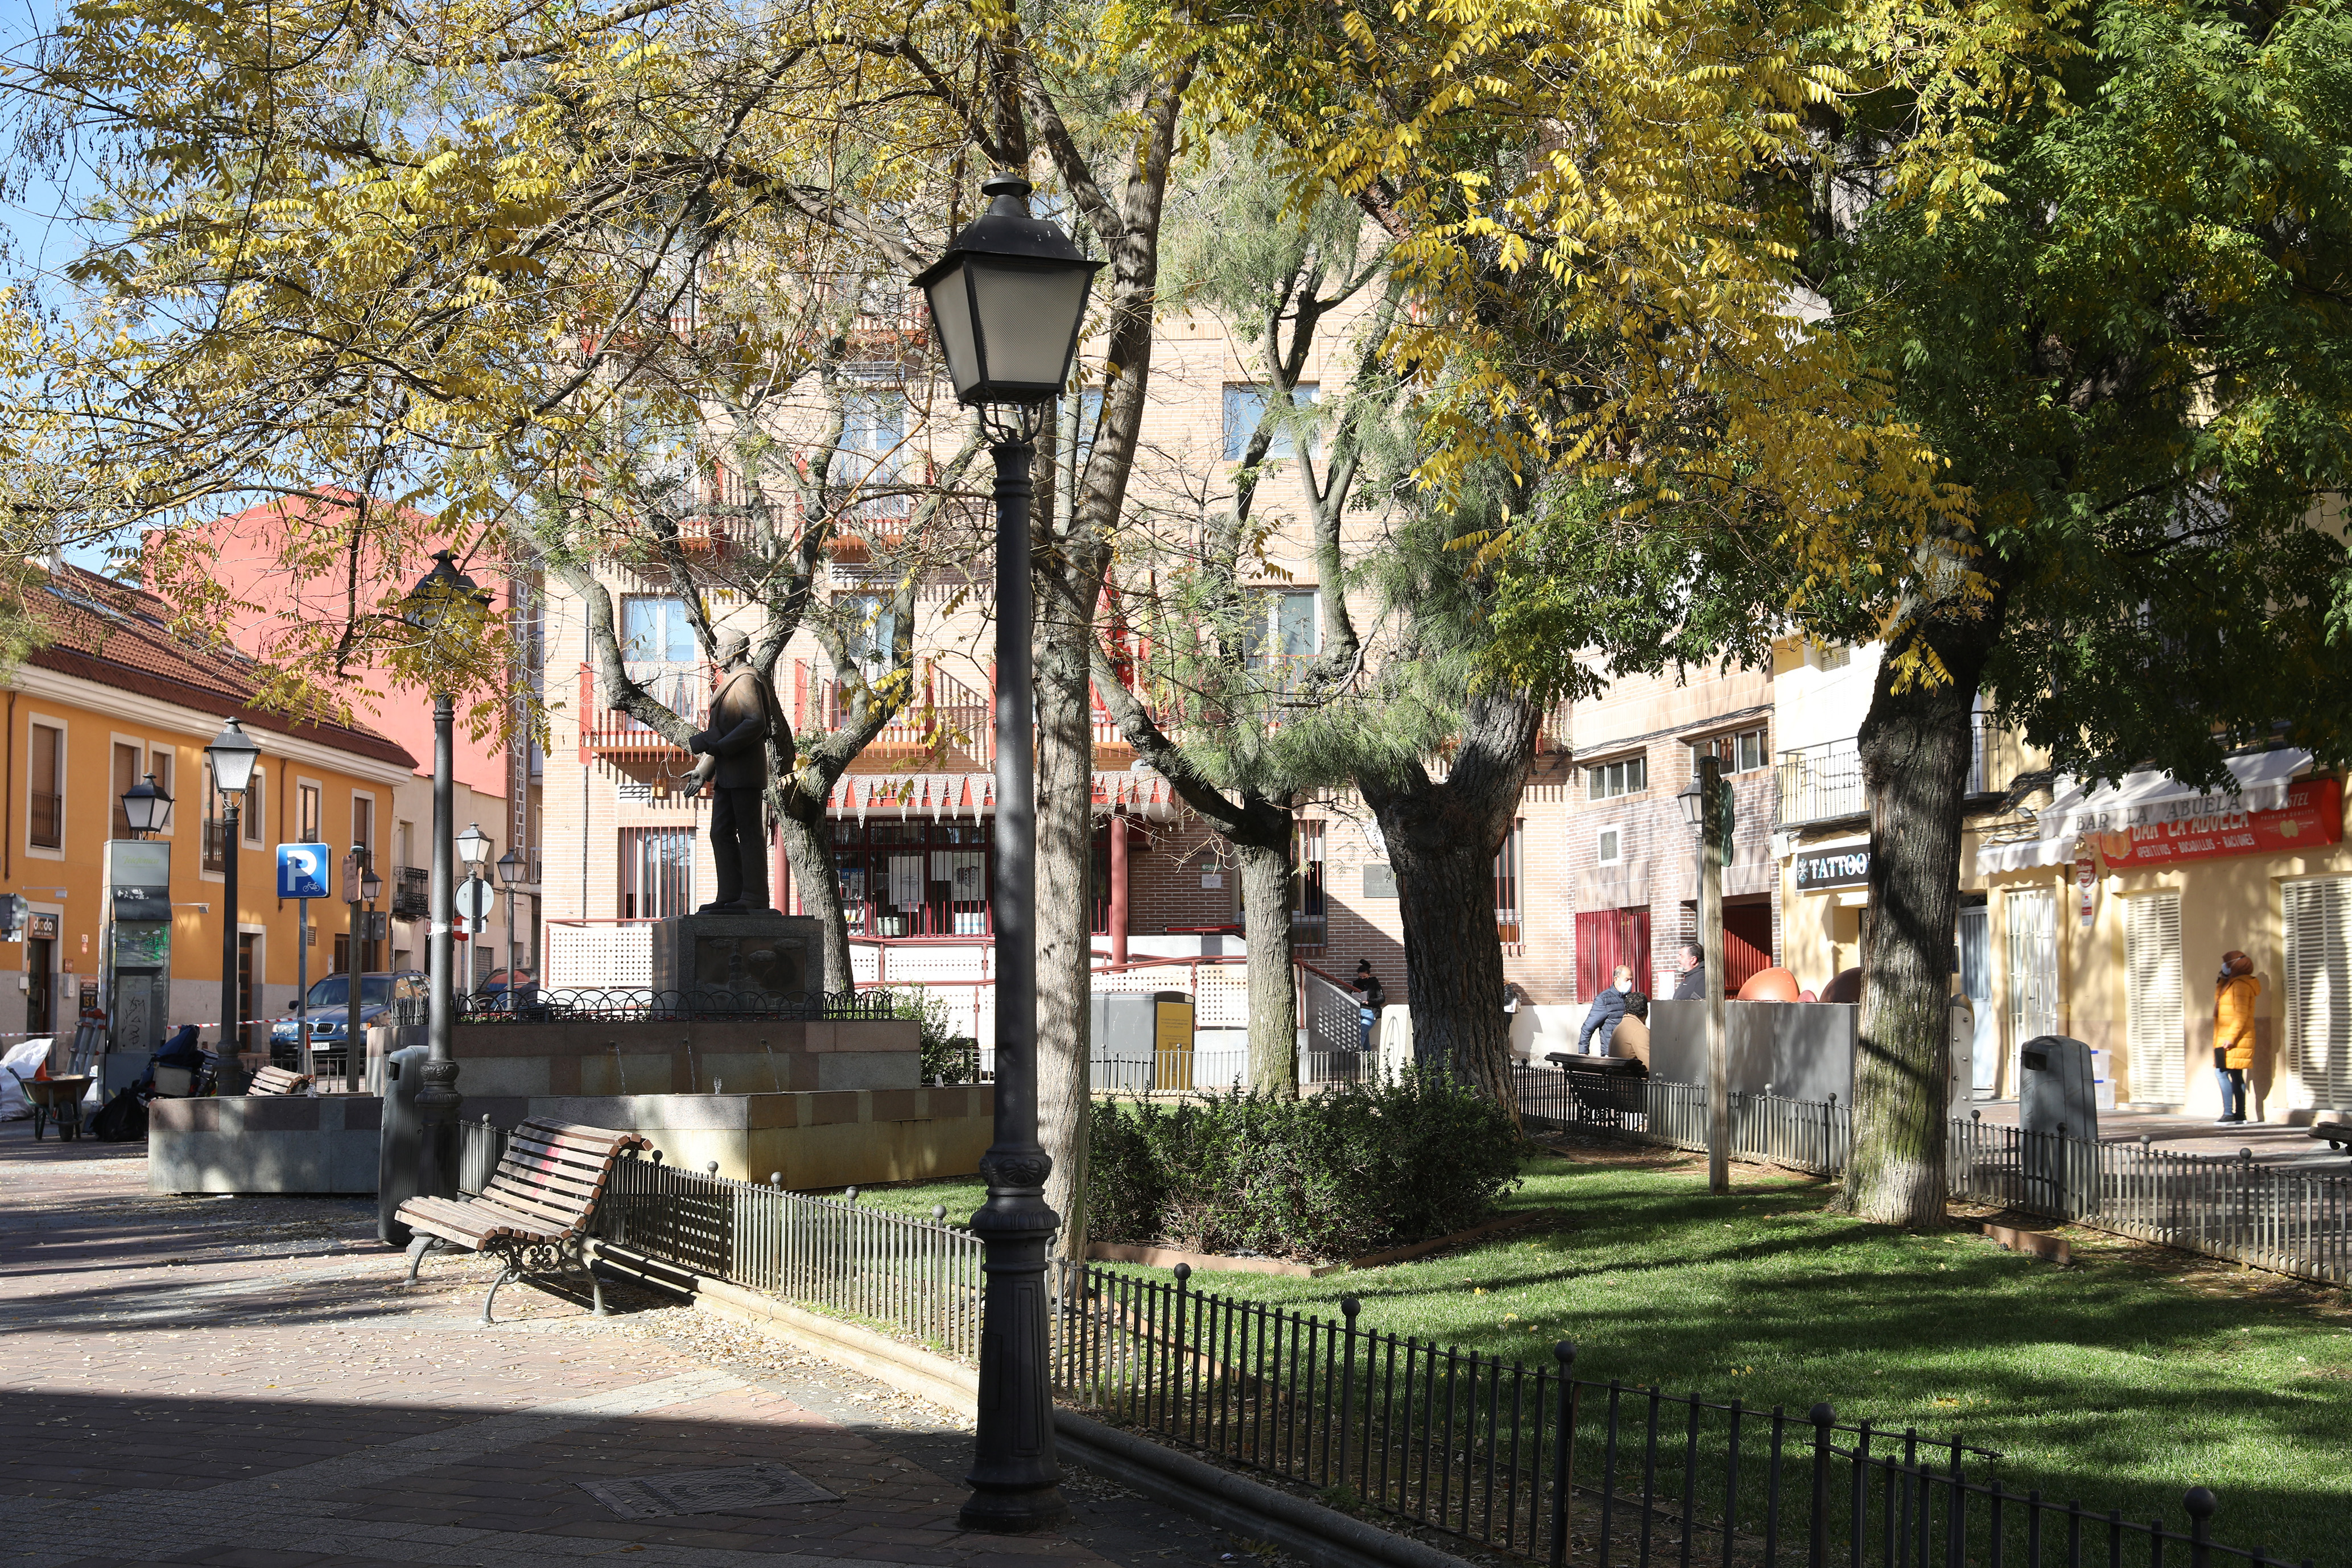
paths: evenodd
<path fill-rule="evenodd" d="M 499 1286 L 524 1274 L 579 1269 L 604 1316 L 604 1286 L 588 1265 L 588 1232 L 612 1171 L 630 1150 L 654 1147 L 637 1133 L 569 1121 L 524 1121 L 506 1140 L 499 1171 L 473 1199 L 409 1199 L 393 1218 L 414 1232 L 409 1284 L 435 1246 L 463 1246 L 503 1260 L 482 1298 L 482 1321 Z"/>

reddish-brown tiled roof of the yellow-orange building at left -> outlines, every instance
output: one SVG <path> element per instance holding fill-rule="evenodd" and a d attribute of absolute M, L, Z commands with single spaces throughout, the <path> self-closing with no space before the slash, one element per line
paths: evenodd
<path fill-rule="evenodd" d="M 365 724 L 289 719 L 282 712 L 256 710 L 254 661 L 230 646 L 202 646 L 174 637 L 172 607 L 141 588 L 66 567 L 49 574 L 42 588 L 26 592 L 26 611 L 45 623 L 47 642 L 24 661 L 40 670 L 75 675 L 223 719 L 235 715 L 247 729 L 332 745 L 405 769 L 416 766 L 405 745 Z"/>

